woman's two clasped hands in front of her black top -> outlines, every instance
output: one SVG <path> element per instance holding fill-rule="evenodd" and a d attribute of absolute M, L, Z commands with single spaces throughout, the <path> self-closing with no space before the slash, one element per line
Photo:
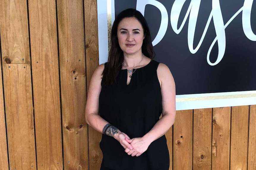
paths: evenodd
<path fill-rule="evenodd" d="M 129 136 L 123 132 L 116 135 L 118 135 L 117 140 L 124 147 L 124 151 L 131 156 L 140 156 L 151 144 L 151 142 L 145 140 L 143 137 L 135 137 L 130 139 Z"/>

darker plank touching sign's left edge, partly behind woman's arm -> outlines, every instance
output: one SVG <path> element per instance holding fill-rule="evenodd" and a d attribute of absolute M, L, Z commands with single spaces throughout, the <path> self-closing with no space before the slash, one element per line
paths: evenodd
<path fill-rule="evenodd" d="M 86 47 L 86 82 L 87 90 L 94 70 L 99 65 L 97 0 L 84 1 L 85 13 L 85 47 Z M 97 170 L 102 161 L 102 152 L 99 148 L 101 134 L 88 127 L 89 169 Z"/>

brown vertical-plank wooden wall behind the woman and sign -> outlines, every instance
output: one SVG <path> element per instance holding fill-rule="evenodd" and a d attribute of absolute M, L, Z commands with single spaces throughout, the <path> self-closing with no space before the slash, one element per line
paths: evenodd
<path fill-rule="evenodd" d="M 98 170 L 96 0 L 0 1 L 0 170 Z M 256 105 L 177 111 L 170 169 L 255 170 Z"/>

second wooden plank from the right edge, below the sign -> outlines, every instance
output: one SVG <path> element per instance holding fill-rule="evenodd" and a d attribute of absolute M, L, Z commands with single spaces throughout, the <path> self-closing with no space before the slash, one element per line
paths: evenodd
<path fill-rule="evenodd" d="M 247 169 L 249 106 L 232 107 L 230 169 Z"/>

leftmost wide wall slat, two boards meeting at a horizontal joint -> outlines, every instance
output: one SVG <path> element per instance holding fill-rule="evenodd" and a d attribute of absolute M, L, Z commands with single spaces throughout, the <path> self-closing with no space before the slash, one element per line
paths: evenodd
<path fill-rule="evenodd" d="M 10 168 L 36 169 L 30 64 L 15 64 L 30 63 L 27 2 L 3 0 L 0 7 Z"/>

